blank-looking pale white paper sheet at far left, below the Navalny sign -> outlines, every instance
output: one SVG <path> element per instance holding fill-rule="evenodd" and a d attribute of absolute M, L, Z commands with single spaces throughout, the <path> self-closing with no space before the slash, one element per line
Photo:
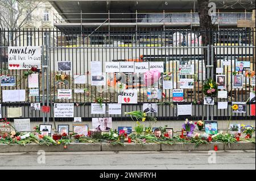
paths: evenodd
<path fill-rule="evenodd" d="M 3 90 L 3 102 L 23 102 L 25 101 L 25 90 Z"/>

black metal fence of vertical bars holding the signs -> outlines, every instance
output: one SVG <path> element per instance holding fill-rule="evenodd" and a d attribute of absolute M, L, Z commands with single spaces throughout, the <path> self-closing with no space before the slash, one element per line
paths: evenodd
<path fill-rule="evenodd" d="M 208 32 L 214 45 L 204 46 L 201 43 L 201 32 L 199 30 L 171 29 L 158 30 L 145 28 L 135 31 L 133 28 L 114 28 L 111 31 L 93 31 L 86 29 L 82 31 L 60 31 L 60 30 L 0 30 L 0 69 L 1 74 L 15 75 L 15 86 L 1 86 L 2 116 L 7 116 L 7 107 L 22 107 L 22 117 L 28 117 L 34 121 L 42 121 L 42 117 L 48 120 L 53 119 L 53 110 L 50 113 L 32 111 L 31 103 L 41 103 L 46 105 L 46 100 L 53 107 L 53 103 L 74 103 L 75 117 L 82 117 L 83 120 L 90 120 L 91 117 L 113 117 L 113 120 L 127 120 L 125 112 L 142 110 L 143 103 L 162 103 L 170 102 L 171 105 L 158 105 L 158 113 L 152 116 L 158 120 L 184 120 L 189 117 L 191 120 L 202 119 L 202 116 L 213 116 L 216 120 L 227 120 L 231 115 L 230 106 L 232 102 L 246 102 L 249 94 L 255 89 L 251 85 L 250 78 L 244 78 L 242 89 L 233 88 L 233 74 L 236 70 L 237 61 L 250 61 L 250 70 L 255 70 L 255 32 L 251 29 L 226 29 Z M 24 70 L 8 70 L 7 47 L 9 46 L 42 46 L 44 52 L 43 65 L 49 65 L 49 73 L 42 70 L 39 73 L 40 96 L 28 96 L 27 79 L 23 79 Z M 213 57 L 209 60 L 204 58 L 204 50 L 214 49 Z M 203 103 L 203 83 L 208 77 L 215 78 L 213 71 L 209 71 L 205 62 L 210 58 L 215 58 L 217 65 L 214 68 L 223 68 L 226 75 L 226 90 L 228 98 L 216 98 L 214 106 L 207 108 Z M 67 72 L 57 71 L 57 62 L 71 61 L 72 70 Z M 109 83 L 104 87 L 90 85 L 90 62 L 100 61 L 102 72 L 106 75 Z M 172 74 L 174 89 L 179 89 L 179 78 L 194 79 L 193 89 L 184 89 L 184 102 L 179 104 L 192 104 L 192 116 L 177 116 L 177 103 L 172 102 L 172 91 L 163 90 L 162 82 L 156 83 L 155 88 L 162 90 L 165 96 L 162 98 L 148 100 L 147 89 L 143 87 L 143 78 L 136 79 L 137 76 L 121 73 L 105 73 L 104 64 L 109 61 L 162 61 L 164 69 Z M 230 61 L 229 66 L 224 66 L 224 61 Z M 179 75 L 179 65 L 195 65 L 196 75 Z M 208 64 L 208 65 L 209 65 Z M 65 73 L 70 76 L 68 85 L 56 85 L 55 75 Z M 85 75 L 86 83 L 75 84 L 73 75 Z M 117 79 L 122 76 L 131 76 L 131 89 L 138 90 L 138 104 L 123 104 L 122 115 L 91 115 L 90 104 L 94 103 L 97 97 L 104 98 L 104 103 L 117 103 L 118 87 L 112 86 L 114 77 Z M 143 74 L 138 74 L 143 77 Z M 46 100 L 42 100 L 43 94 L 47 92 L 47 82 L 49 95 Z M 128 85 L 128 82 L 126 83 Z M 6 103 L 2 102 L 2 90 L 26 90 L 26 102 Z M 73 92 L 72 99 L 57 99 L 57 89 L 85 89 L 84 93 L 76 94 Z M 89 92 L 89 94 L 86 94 Z M 228 102 L 228 109 L 219 110 L 218 102 Z M 246 113 L 233 114 L 233 119 L 255 119 L 250 116 L 251 104 L 247 101 Z M 70 118 L 55 118 L 59 121 L 68 121 Z"/>

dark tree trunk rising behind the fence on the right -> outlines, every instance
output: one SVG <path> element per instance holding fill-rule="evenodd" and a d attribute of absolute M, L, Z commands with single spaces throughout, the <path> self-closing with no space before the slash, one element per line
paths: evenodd
<path fill-rule="evenodd" d="M 208 11 L 209 11 L 209 0 L 197 0 L 197 4 L 198 4 L 198 12 L 199 12 L 199 19 L 200 19 L 200 32 L 201 32 L 201 36 L 202 36 L 202 43 L 203 46 L 207 46 L 207 45 L 214 45 L 214 39 L 213 39 L 213 24 L 212 24 L 212 18 L 211 16 L 208 15 Z M 208 52 L 207 49 L 204 49 L 204 64 L 205 66 L 208 65 L 207 64 L 207 56 L 208 56 Z M 212 58 L 212 50 L 210 49 L 209 52 L 209 57 L 210 57 L 210 62 L 211 62 L 211 58 Z M 214 54 L 214 50 L 213 50 L 213 79 L 215 79 L 215 75 L 216 75 L 216 66 L 217 66 L 217 62 L 216 62 L 216 58 L 215 58 L 215 54 Z M 206 69 L 206 72 L 208 72 L 208 69 Z"/>

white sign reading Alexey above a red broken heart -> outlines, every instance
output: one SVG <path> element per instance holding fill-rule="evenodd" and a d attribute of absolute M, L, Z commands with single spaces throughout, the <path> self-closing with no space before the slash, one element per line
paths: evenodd
<path fill-rule="evenodd" d="M 124 91 L 118 92 L 118 103 L 119 104 L 137 104 L 138 103 L 137 90 L 124 90 Z"/>

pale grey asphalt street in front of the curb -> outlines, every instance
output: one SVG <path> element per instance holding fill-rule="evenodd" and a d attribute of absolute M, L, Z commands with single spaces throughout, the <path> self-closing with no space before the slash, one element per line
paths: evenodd
<path fill-rule="evenodd" d="M 255 170 L 255 150 L 1 153 L 0 169 Z"/>

